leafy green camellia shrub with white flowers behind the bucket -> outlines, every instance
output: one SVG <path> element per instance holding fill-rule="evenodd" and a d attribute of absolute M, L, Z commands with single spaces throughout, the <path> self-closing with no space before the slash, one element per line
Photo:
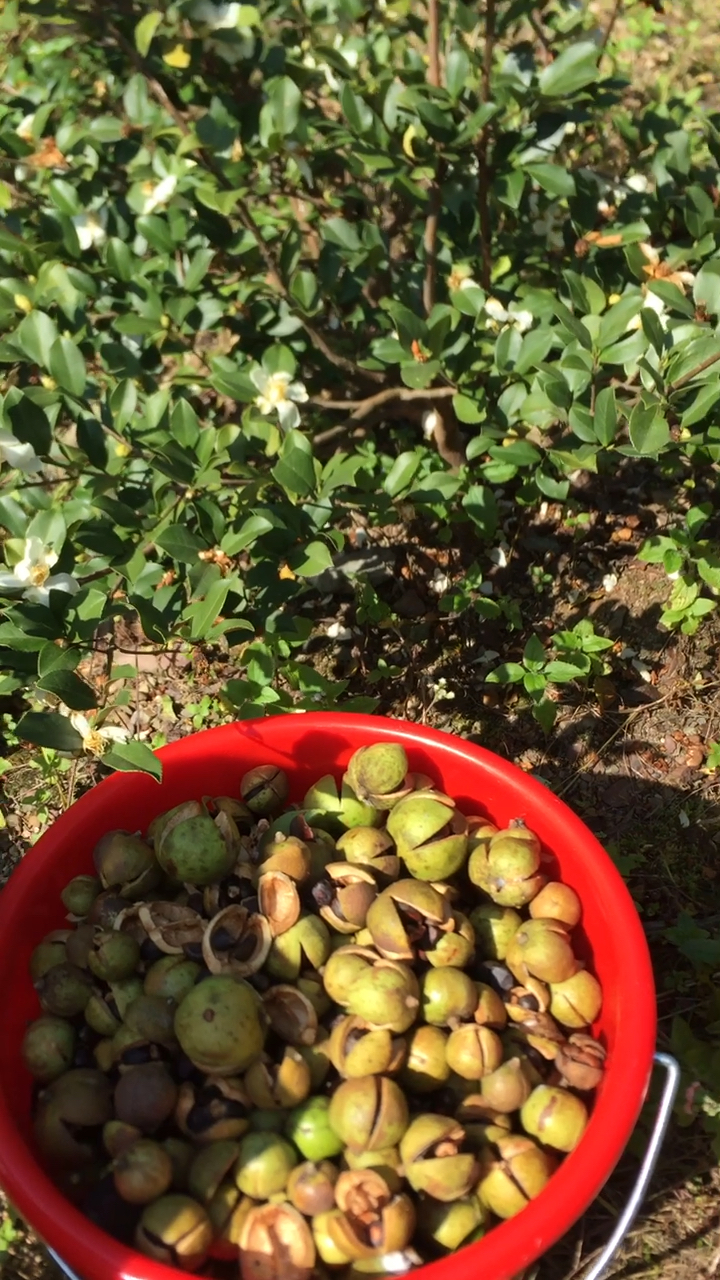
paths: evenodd
<path fill-rule="evenodd" d="M 8 0 L 0 692 L 20 740 L 158 769 L 77 669 L 122 616 L 243 646 L 241 716 L 336 696 L 293 662 L 296 605 L 354 509 L 492 543 L 498 498 L 562 502 L 579 471 L 711 474 L 720 119 L 625 106 L 589 20 Z M 693 512 L 644 550 L 685 630 L 720 589 Z"/>

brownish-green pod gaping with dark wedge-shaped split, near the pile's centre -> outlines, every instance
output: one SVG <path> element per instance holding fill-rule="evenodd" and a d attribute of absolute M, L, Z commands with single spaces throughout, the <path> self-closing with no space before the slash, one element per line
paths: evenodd
<path fill-rule="evenodd" d="M 373 945 L 387 960 L 409 960 L 437 945 L 451 925 L 450 902 L 432 884 L 401 879 L 388 884 L 368 911 Z"/>

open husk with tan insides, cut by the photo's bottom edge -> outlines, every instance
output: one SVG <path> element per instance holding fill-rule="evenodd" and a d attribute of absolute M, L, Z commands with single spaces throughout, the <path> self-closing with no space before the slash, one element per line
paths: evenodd
<path fill-rule="evenodd" d="M 240 1231 L 241 1280 L 310 1280 L 315 1244 L 292 1204 L 259 1204 Z"/>

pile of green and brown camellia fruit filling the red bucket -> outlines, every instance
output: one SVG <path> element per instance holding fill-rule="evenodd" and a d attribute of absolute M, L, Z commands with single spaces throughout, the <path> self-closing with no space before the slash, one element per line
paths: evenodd
<path fill-rule="evenodd" d="M 538 1196 L 603 1048 L 538 838 L 360 748 L 111 831 L 35 948 L 35 1138 L 118 1240 L 186 1271 L 409 1271 Z"/>

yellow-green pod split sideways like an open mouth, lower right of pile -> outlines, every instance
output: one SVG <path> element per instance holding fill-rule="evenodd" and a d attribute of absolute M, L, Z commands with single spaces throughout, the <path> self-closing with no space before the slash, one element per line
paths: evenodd
<path fill-rule="evenodd" d="M 400 1139 L 405 1176 L 413 1190 L 433 1199 L 466 1196 L 478 1178 L 478 1161 L 464 1151 L 465 1130 L 451 1116 L 416 1116 Z"/>

